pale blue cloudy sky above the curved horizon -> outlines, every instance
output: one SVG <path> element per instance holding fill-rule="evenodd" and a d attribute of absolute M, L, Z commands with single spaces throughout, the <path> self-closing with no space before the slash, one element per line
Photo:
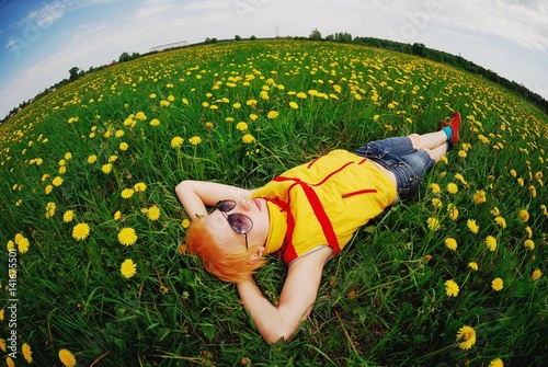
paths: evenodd
<path fill-rule="evenodd" d="M 423 43 L 548 100 L 548 0 L 0 0 L 0 118 L 72 67 L 276 27 Z"/>

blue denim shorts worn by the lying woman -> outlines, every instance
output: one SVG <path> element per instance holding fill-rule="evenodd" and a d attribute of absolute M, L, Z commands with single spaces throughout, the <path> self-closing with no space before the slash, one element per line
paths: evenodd
<path fill-rule="evenodd" d="M 411 197 L 419 191 L 421 180 L 435 163 L 426 151 L 414 149 L 408 137 L 372 141 L 354 153 L 393 172 L 400 199 Z"/>

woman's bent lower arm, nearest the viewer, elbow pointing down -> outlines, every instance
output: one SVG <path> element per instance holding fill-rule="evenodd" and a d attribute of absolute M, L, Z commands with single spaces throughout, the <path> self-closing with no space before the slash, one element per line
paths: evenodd
<path fill-rule="evenodd" d="M 266 343 L 288 341 L 312 310 L 321 274 L 332 250 L 324 248 L 289 266 L 279 302 L 274 307 L 252 279 L 237 285 L 243 306 Z"/>

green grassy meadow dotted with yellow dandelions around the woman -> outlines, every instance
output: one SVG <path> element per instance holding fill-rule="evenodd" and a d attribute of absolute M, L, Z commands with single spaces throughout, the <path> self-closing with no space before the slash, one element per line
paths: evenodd
<path fill-rule="evenodd" d="M 292 342 L 185 253 L 180 181 L 258 187 L 453 111 L 460 144 L 328 263 Z M 546 365 L 547 149 L 530 104 L 388 50 L 233 42 L 94 72 L 0 126 L 2 364 Z M 273 302 L 284 275 L 255 277 Z"/>

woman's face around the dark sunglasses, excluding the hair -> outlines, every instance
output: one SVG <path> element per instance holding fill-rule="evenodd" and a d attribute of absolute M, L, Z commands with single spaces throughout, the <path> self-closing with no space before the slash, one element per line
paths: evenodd
<path fill-rule="evenodd" d="M 208 215 L 206 226 L 217 243 L 227 246 L 246 249 L 246 236 L 237 233 L 230 226 L 227 217 L 231 214 L 242 214 L 251 219 L 253 227 L 247 233 L 248 246 L 261 243 L 264 245 L 269 236 L 270 217 L 266 200 L 263 198 L 246 198 L 236 202 L 233 208 L 228 211 L 219 209 Z"/>

